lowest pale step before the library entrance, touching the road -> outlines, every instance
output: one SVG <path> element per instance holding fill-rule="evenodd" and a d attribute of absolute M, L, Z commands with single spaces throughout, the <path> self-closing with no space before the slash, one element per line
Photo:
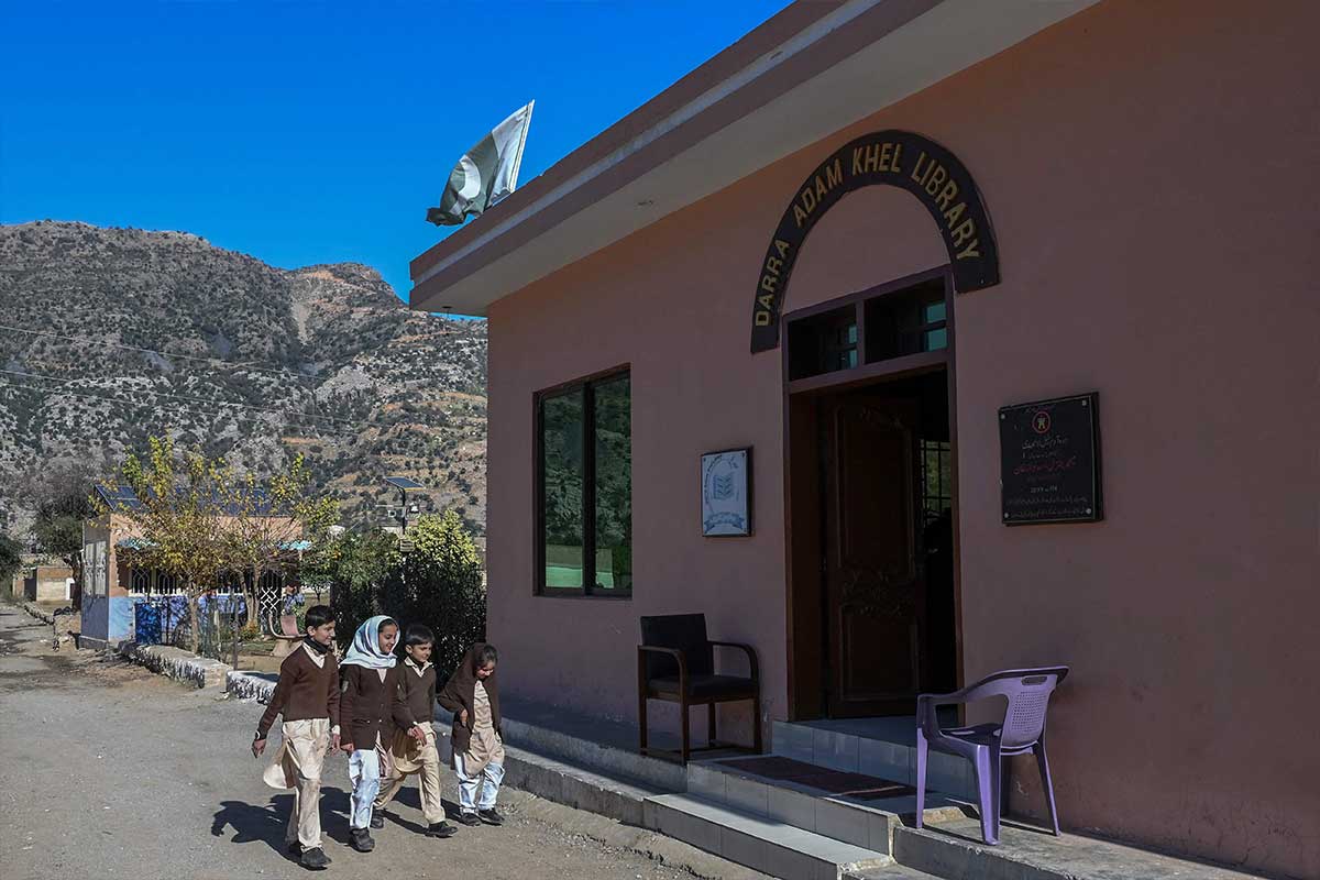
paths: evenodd
<path fill-rule="evenodd" d="M 892 865 L 884 852 L 822 836 L 692 794 L 647 798 L 647 826 L 784 880 L 840 880 Z"/>

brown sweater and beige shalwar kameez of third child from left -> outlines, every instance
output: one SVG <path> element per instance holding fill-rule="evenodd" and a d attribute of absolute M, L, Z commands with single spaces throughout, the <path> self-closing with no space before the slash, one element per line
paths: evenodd
<path fill-rule="evenodd" d="M 417 664 L 412 657 L 404 657 L 399 669 L 399 690 L 395 694 L 393 719 L 395 736 L 391 743 L 393 773 L 381 782 L 376 809 L 384 809 L 403 788 L 404 777 L 417 773 L 421 788 L 421 811 L 426 825 L 437 826 L 445 821 L 445 807 L 441 802 L 440 749 L 436 747 L 436 666 L 429 661 Z M 408 731 L 421 727 L 425 741 L 418 743 Z"/>

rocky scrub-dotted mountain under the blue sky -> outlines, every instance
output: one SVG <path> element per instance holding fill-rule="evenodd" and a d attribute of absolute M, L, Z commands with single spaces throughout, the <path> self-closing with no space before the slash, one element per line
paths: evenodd
<path fill-rule="evenodd" d="M 380 274 L 279 269 L 186 232 L 0 226 L 0 528 L 28 487 L 111 472 L 172 431 L 239 467 L 302 453 L 347 524 L 397 492 L 486 520 L 486 323 L 409 311 Z"/>

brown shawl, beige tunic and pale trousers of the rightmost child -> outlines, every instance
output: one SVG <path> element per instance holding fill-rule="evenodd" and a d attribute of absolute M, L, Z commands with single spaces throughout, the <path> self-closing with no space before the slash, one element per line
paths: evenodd
<path fill-rule="evenodd" d="M 495 809 L 504 780 L 504 741 L 500 739 L 496 674 L 477 677 L 484 644 L 469 648 L 458 669 L 440 693 L 440 705 L 454 714 L 450 764 L 458 776 L 458 805 L 465 814 Z M 467 711 L 467 723 L 461 712 Z M 479 792 L 479 797 L 478 797 Z"/>

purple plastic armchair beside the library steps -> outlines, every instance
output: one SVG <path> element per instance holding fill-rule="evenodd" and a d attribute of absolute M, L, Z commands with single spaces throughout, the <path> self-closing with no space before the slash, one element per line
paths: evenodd
<path fill-rule="evenodd" d="M 1049 803 L 1049 822 L 1059 835 L 1055 786 L 1049 781 L 1045 757 L 1045 711 L 1049 694 L 1068 676 L 1067 666 L 1008 669 L 982 678 L 952 694 L 921 694 L 916 698 L 916 827 L 921 827 L 925 807 L 925 760 L 929 749 L 957 755 L 972 761 L 981 805 L 981 834 L 989 844 L 999 843 L 999 810 L 1003 792 L 1003 761 L 1031 752 L 1040 767 L 1040 780 Z M 973 727 L 940 727 L 937 706 L 972 703 L 990 697 L 1007 699 L 1003 722 Z"/>

